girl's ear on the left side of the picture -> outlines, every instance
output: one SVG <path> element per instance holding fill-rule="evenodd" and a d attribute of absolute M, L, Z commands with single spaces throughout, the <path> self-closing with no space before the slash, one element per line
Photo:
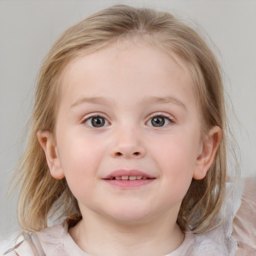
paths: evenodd
<path fill-rule="evenodd" d="M 63 178 L 64 172 L 59 159 L 57 147 L 53 140 L 53 135 L 49 131 L 39 130 L 37 132 L 37 139 L 45 153 L 46 161 L 53 178 Z"/>

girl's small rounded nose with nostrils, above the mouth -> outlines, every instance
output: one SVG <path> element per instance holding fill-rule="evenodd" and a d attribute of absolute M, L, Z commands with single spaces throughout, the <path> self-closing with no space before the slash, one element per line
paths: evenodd
<path fill-rule="evenodd" d="M 146 153 L 141 134 L 134 130 L 119 130 L 112 142 L 110 153 L 113 157 L 141 158 Z"/>

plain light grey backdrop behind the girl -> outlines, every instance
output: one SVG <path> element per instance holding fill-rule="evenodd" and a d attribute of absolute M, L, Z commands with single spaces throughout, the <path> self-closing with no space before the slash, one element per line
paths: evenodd
<path fill-rule="evenodd" d="M 173 11 L 207 31 L 221 55 L 231 113 L 238 119 L 230 114 L 242 174 L 256 173 L 255 0 L 0 0 L 0 238 L 17 228 L 17 192 L 4 202 L 5 190 L 21 152 L 18 140 L 40 63 L 63 30 L 115 3 Z"/>

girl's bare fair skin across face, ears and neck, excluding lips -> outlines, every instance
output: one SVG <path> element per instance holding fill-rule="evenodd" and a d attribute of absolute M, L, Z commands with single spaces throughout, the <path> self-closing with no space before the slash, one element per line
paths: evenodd
<path fill-rule="evenodd" d="M 192 177 L 205 176 L 221 138 L 217 126 L 200 134 L 192 86 L 186 63 L 142 42 L 113 43 L 66 67 L 55 139 L 39 131 L 38 140 L 51 175 L 65 177 L 78 200 L 83 218 L 69 233 L 82 250 L 164 255 L 182 243 L 181 200 Z M 92 126 L 95 115 L 104 126 Z M 153 126 L 156 116 L 164 125 Z M 106 182 L 118 169 L 154 179 L 137 187 Z"/>

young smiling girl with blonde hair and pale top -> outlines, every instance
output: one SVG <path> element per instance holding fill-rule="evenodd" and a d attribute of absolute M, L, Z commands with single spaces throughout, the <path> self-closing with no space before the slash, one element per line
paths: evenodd
<path fill-rule="evenodd" d="M 197 32 L 126 5 L 89 16 L 42 64 L 16 169 L 24 233 L 4 255 L 239 253 L 225 132 L 220 67 Z"/>

